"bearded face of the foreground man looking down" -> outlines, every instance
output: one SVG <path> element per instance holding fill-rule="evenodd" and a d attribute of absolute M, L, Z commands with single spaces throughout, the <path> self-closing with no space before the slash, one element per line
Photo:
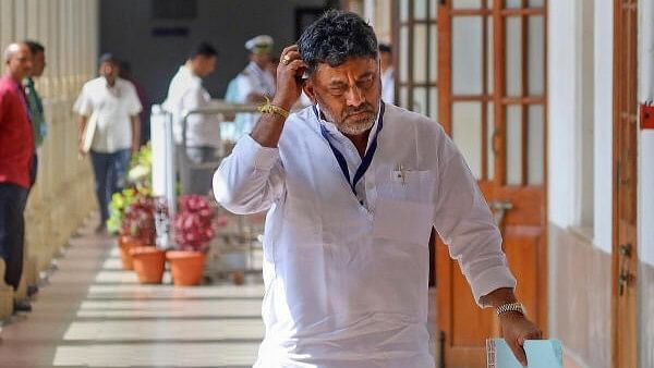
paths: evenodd
<path fill-rule="evenodd" d="M 377 59 L 354 58 L 336 68 L 319 64 L 304 91 L 340 132 L 360 135 L 375 124 L 380 86 Z"/>

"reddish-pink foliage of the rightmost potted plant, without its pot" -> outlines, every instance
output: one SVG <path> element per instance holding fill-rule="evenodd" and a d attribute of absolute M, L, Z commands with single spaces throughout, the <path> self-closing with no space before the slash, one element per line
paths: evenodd
<path fill-rule="evenodd" d="M 205 250 L 216 233 L 214 218 L 215 211 L 205 196 L 181 196 L 179 212 L 172 222 L 178 247 L 182 250 Z"/>

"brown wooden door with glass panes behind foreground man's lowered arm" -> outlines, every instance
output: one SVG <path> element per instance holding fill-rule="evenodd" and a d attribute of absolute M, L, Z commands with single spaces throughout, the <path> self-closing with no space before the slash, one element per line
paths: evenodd
<path fill-rule="evenodd" d="M 547 326 L 546 3 L 444 0 L 438 9 L 439 121 L 494 209 L 528 315 Z M 498 335 L 447 247 L 437 245 L 438 324 L 446 367 L 483 367 Z"/>

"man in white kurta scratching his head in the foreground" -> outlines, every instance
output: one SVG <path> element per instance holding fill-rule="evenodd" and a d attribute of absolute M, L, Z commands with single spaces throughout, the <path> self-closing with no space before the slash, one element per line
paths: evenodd
<path fill-rule="evenodd" d="M 521 345 L 541 331 L 513 295 L 493 216 L 443 127 L 382 101 L 372 27 L 329 11 L 298 44 L 281 54 L 272 102 L 214 175 L 227 209 L 268 209 L 255 367 L 434 367 L 432 226 L 525 363 Z M 288 115 L 302 88 L 315 105 Z"/>

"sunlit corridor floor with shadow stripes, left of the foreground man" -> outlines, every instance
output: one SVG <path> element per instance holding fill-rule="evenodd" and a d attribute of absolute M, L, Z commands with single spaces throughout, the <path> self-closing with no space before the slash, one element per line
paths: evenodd
<path fill-rule="evenodd" d="M 141 285 L 114 241 L 71 240 L 34 311 L 3 326 L 0 367 L 251 367 L 263 285 Z"/>

